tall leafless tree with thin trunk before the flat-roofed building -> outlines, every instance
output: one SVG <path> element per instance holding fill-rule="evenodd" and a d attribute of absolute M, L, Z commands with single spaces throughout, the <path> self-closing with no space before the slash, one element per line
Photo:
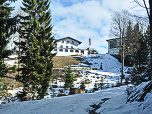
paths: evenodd
<path fill-rule="evenodd" d="M 123 10 L 121 12 L 115 12 L 112 16 L 112 23 L 110 29 L 110 36 L 114 36 L 115 38 L 121 39 L 121 55 L 122 55 L 122 74 L 121 74 L 121 84 L 122 79 L 124 78 L 124 38 L 125 33 L 128 27 L 128 21 L 130 20 L 129 12 L 127 10 Z"/>

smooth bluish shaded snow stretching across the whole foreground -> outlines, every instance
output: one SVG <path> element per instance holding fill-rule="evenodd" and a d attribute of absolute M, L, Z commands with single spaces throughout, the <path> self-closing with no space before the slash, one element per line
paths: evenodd
<path fill-rule="evenodd" d="M 142 89 L 148 82 L 136 87 Z M 91 105 L 100 105 L 94 114 L 152 114 L 152 94 L 148 93 L 143 102 L 127 102 L 127 86 L 108 88 L 95 93 L 84 93 L 52 99 L 15 102 L 0 105 L 0 114 L 88 114 L 94 110 Z M 142 91 L 141 91 L 142 92 Z"/>

